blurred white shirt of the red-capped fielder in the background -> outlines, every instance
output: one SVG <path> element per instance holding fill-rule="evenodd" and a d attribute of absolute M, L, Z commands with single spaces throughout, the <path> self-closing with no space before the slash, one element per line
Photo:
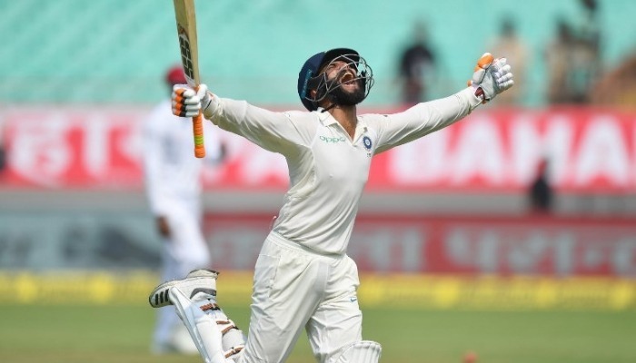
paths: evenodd
<path fill-rule="evenodd" d="M 204 160 L 219 158 L 212 125 L 204 125 L 205 158 L 194 156 L 192 120 L 174 116 L 171 100 L 159 103 L 144 120 L 144 179 L 150 209 L 167 215 L 174 201 L 198 199 Z"/>

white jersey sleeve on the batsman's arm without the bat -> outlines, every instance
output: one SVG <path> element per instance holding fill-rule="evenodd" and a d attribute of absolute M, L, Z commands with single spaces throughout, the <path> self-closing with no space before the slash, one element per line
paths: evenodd
<path fill-rule="evenodd" d="M 378 132 L 375 153 L 385 152 L 456 123 L 472 112 L 482 100 L 466 88 L 449 97 L 418 103 L 402 113 L 375 118 Z"/>

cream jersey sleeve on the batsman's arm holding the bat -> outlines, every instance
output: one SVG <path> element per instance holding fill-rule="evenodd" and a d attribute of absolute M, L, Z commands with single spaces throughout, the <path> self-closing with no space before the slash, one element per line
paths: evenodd
<path fill-rule="evenodd" d="M 317 127 L 311 113 L 276 113 L 245 101 L 214 96 L 211 108 L 214 111 L 205 117 L 221 129 L 283 155 L 292 154 L 299 145 L 308 145 Z"/>

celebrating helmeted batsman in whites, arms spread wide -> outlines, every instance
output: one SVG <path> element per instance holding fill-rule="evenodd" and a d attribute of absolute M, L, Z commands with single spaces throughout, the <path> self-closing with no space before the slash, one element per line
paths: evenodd
<path fill-rule="evenodd" d="M 216 304 L 212 270 L 159 285 L 158 308 L 174 304 L 205 362 L 283 362 L 304 328 L 319 362 L 375 363 L 381 347 L 363 340 L 355 262 L 346 255 L 373 155 L 461 120 L 512 86 L 505 58 L 483 54 L 469 86 L 449 97 L 394 114 L 358 115 L 373 71 L 352 49 L 309 58 L 298 77 L 307 112 L 273 113 L 175 85 L 173 113 L 204 117 L 266 150 L 289 166 L 290 189 L 254 268 L 246 340 Z M 190 152 L 190 148 L 184 148 Z"/>

